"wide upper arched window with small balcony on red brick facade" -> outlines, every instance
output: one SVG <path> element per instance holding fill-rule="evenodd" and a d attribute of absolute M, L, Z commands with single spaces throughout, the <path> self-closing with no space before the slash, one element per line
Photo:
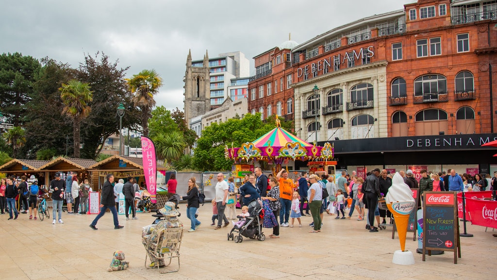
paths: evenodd
<path fill-rule="evenodd" d="M 424 75 L 414 80 L 414 103 L 447 101 L 447 79 L 442 75 Z"/>

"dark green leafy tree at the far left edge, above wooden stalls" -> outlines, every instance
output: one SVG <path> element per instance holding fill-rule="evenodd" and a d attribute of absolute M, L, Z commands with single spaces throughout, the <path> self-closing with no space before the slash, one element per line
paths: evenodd
<path fill-rule="evenodd" d="M 26 104 L 33 92 L 40 62 L 16 52 L 0 55 L 0 108 L 7 121 L 16 127 L 23 123 Z"/>

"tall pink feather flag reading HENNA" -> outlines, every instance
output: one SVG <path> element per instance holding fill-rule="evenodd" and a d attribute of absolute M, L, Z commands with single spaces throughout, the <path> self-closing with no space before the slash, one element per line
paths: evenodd
<path fill-rule="evenodd" d="M 154 142 L 145 136 L 142 139 L 143 171 L 145 173 L 145 183 L 147 190 L 152 195 L 152 203 L 156 203 L 157 193 L 157 160 Z"/>

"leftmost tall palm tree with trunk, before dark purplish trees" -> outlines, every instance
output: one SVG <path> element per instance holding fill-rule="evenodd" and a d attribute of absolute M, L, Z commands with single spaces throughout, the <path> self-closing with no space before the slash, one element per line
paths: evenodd
<path fill-rule="evenodd" d="M 93 100 L 92 91 L 87 83 L 78 80 L 71 80 L 67 85 L 62 84 L 59 91 L 65 105 L 62 113 L 73 119 L 74 157 L 79 158 L 81 121 L 88 117 L 91 111 L 87 103 Z"/>

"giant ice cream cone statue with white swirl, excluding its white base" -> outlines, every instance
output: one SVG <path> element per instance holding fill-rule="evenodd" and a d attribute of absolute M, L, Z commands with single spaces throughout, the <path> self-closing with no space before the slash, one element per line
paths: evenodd
<path fill-rule="evenodd" d="M 409 222 L 409 214 L 414 210 L 413 192 L 404 179 L 397 172 L 392 178 L 392 186 L 388 189 L 385 197 L 388 210 L 394 215 L 395 226 L 399 233 L 399 241 L 402 252 L 406 251 L 406 235 Z"/>

